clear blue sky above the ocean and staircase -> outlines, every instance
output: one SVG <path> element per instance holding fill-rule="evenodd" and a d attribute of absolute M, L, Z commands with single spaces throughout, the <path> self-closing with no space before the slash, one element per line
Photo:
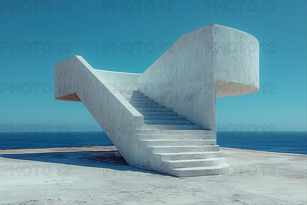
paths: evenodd
<path fill-rule="evenodd" d="M 69 124 L 72 131 L 99 131 L 82 103 L 54 99 L 56 63 L 81 55 L 94 68 L 142 73 L 162 54 L 161 42 L 165 51 L 168 42 L 214 23 L 259 40 L 259 79 L 264 85 L 255 94 L 218 98 L 217 124 L 306 130 L 306 1 L 246 1 L 242 7 L 220 1 L 217 8 L 216 1 L 144 1 L 139 8 L 136 1 L 119 1 L 115 8 L 114 1 L 11 4 L 1 1 L 2 125 L 51 125 L 56 131 L 57 125 Z M 143 45 L 140 52 L 128 52 L 130 47 L 104 52 L 105 42 Z M 155 46 L 152 52 L 144 48 L 148 42 Z M 18 88 L 5 89 L 18 85 L 20 93 Z"/>

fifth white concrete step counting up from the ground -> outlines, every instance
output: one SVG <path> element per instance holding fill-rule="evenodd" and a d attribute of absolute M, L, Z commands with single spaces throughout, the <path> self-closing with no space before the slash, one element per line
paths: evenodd
<path fill-rule="evenodd" d="M 155 146 L 206 146 L 216 145 L 216 141 L 213 139 L 144 139 L 140 140 L 146 144 L 146 147 Z"/>

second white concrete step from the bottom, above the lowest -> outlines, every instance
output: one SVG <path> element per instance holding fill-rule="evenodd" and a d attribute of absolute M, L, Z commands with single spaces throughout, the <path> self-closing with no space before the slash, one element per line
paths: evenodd
<path fill-rule="evenodd" d="M 183 160 L 165 160 L 162 161 L 164 166 L 169 168 L 192 168 L 192 167 L 206 167 L 214 165 L 223 165 L 225 163 L 224 157 L 207 158 L 207 159 L 183 159 Z"/>

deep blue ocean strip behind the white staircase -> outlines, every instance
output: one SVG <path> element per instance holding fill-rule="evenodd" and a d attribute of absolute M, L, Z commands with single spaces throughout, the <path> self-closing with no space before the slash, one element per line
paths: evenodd
<path fill-rule="evenodd" d="M 274 132 L 254 134 L 217 133 L 217 145 L 227 148 L 307 154 L 307 132 Z M 84 146 L 113 146 L 104 132 L 1 133 L 0 149 L 35 149 Z"/>

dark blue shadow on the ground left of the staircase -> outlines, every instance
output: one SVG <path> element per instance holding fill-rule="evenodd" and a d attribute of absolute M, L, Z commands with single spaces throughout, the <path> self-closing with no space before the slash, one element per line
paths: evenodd
<path fill-rule="evenodd" d="M 158 174 L 131 167 L 118 151 L 82 151 L 82 152 L 53 152 L 33 154 L 1 154 L 0 157 L 10 159 L 32 160 L 51 163 L 62 163 L 84 167 L 115 169 L 119 171 L 135 171 Z"/>

